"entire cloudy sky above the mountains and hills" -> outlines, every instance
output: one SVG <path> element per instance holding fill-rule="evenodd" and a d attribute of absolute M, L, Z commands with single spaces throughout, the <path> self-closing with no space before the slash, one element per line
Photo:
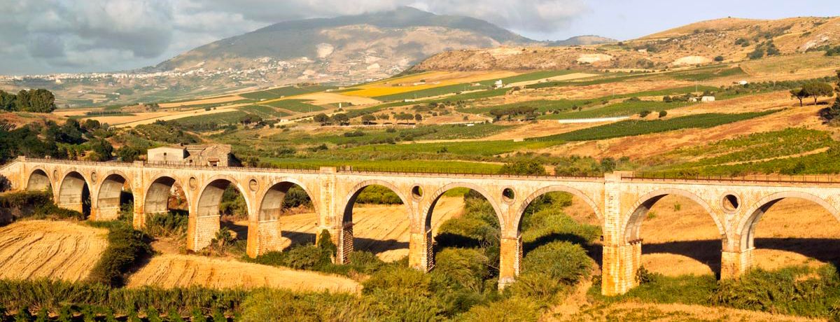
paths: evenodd
<path fill-rule="evenodd" d="M 837 0 L 0 0 L 0 74 L 119 71 L 269 24 L 411 6 L 534 40 L 629 40 L 711 18 L 840 16 Z"/>

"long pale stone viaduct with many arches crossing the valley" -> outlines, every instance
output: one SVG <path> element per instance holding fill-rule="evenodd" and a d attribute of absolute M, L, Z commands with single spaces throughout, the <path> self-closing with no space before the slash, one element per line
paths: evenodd
<path fill-rule="evenodd" d="M 134 195 L 134 226 L 145 215 L 166 212 L 175 184 L 183 188 L 189 204 L 187 248 L 201 250 L 219 229 L 219 201 L 234 185 L 244 195 L 249 212 L 249 256 L 280 250 L 279 210 L 292 185 L 312 198 L 319 231 L 328 230 L 338 245 L 336 261 L 353 251 L 353 204 L 362 189 L 381 185 L 393 190 L 406 207 L 410 222 L 409 264 L 419 270 L 433 268 L 431 214 L 444 192 L 466 187 L 482 194 L 496 210 L 501 225 L 500 287 L 519 272 L 522 238 L 519 222 L 528 204 L 549 192 L 566 192 L 588 203 L 602 219 L 602 292 L 626 293 L 637 285 L 641 265 L 639 229 L 648 210 L 660 198 L 680 195 L 706 209 L 721 236 L 721 277 L 734 278 L 752 263 L 755 225 L 762 214 L 783 198 L 802 198 L 822 205 L 840 219 L 840 182 L 817 182 L 806 177 L 787 181 L 684 180 L 634 177 L 613 172 L 604 177 L 533 177 L 405 172 L 357 172 L 351 168 L 285 170 L 245 167 L 166 166 L 143 162 L 87 162 L 28 159 L 0 167 L 13 190 L 51 188 L 55 202 L 81 209 L 82 189 L 91 196 L 91 219 L 115 219 L 119 195 L 130 187 Z"/>

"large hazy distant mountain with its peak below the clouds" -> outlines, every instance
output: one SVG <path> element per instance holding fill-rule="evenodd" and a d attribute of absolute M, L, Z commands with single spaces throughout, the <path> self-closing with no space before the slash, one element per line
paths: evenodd
<path fill-rule="evenodd" d="M 270 82 L 346 83 L 389 77 L 446 50 L 536 44 L 484 20 L 402 7 L 272 24 L 202 45 L 154 69 L 233 68 L 265 74 Z"/>

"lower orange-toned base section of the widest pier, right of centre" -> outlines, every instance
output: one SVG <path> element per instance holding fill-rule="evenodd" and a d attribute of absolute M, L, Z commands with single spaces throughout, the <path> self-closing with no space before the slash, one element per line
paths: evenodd
<path fill-rule="evenodd" d="M 638 285 L 636 272 L 642 265 L 642 240 L 627 245 L 604 245 L 601 293 L 621 295 Z"/>

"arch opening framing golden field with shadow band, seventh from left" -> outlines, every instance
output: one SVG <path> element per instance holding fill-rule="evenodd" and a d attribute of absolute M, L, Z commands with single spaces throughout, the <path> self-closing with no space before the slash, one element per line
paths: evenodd
<path fill-rule="evenodd" d="M 411 230 L 407 207 L 396 187 L 386 182 L 361 183 L 349 196 L 342 216 L 344 256 L 349 251 L 369 251 L 383 261 L 407 256 Z"/>

